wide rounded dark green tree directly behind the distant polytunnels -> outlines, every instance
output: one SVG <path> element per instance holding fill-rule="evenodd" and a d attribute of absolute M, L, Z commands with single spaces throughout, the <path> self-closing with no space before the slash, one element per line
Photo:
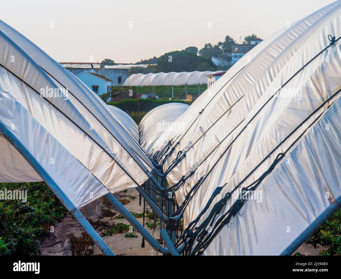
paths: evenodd
<path fill-rule="evenodd" d="M 206 59 L 187 50 L 165 53 L 158 58 L 157 62 L 157 71 L 165 73 L 193 72 L 201 62 L 206 62 L 210 67 L 215 68 L 211 59 Z"/>

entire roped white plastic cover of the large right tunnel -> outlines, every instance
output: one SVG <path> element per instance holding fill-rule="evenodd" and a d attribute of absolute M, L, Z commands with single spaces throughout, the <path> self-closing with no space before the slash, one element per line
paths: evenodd
<path fill-rule="evenodd" d="M 246 201 L 204 254 L 290 254 L 341 203 L 340 40 L 314 58 L 329 45 L 329 34 L 341 36 L 340 3 L 326 6 L 253 48 L 251 62 L 240 59 L 177 120 L 192 115 L 188 127 L 168 136 L 180 142 L 164 171 L 178 151 L 188 150 L 198 140 L 167 176 L 174 184 L 195 171 L 176 192 L 179 204 L 204 177 L 184 212 L 185 227 L 217 187 L 227 183 L 198 224 L 227 192 L 236 188 L 238 193 L 256 181 L 289 148 L 256 188 L 261 200 Z M 278 88 L 280 94 L 270 99 Z M 213 225 L 236 199 L 231 196 Z"/>

